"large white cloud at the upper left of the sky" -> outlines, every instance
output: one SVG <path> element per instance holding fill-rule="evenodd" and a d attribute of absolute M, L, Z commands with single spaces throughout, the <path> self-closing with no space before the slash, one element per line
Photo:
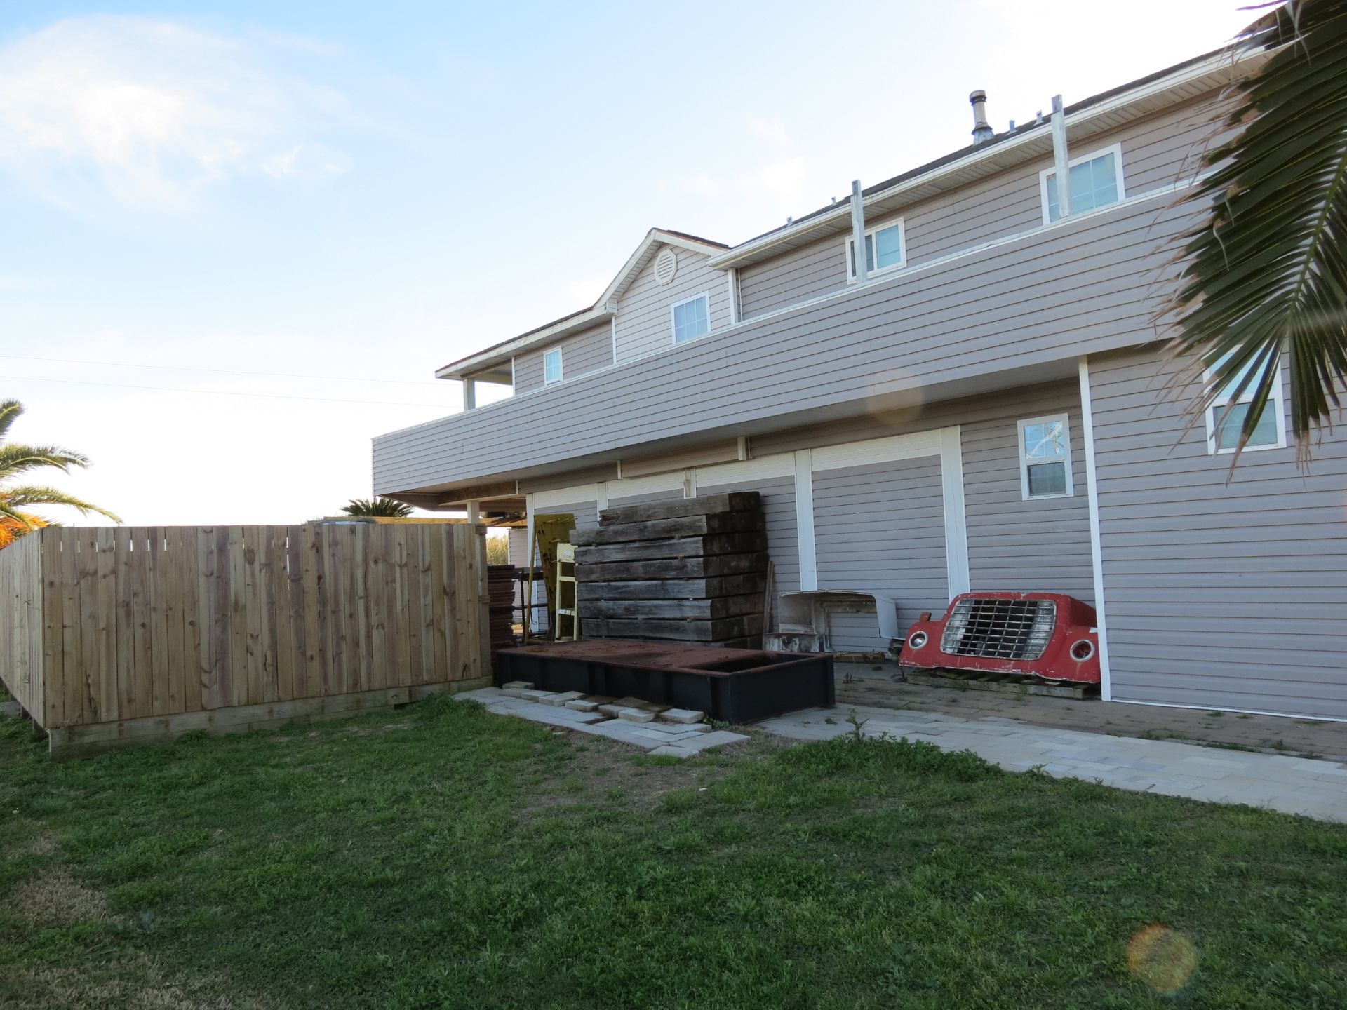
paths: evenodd
<path fill-rule="evenodd" d="M 295 136 L 339 96 L 269 69 L 268 44 L 112 16 L 20 38 L 0 48 L 0 167 L 75 210 L 108 197 L 180 207 L 240 174 L 345 171 Z"/>

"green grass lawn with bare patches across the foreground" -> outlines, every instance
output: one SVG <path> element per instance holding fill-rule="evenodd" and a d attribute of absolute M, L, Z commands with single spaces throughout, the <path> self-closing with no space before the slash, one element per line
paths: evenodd
<path fill-rule="evenodd" d="M 924 745 L 0 718 L 0 1006 L 1347 1006 L 1347 828 Z"/>

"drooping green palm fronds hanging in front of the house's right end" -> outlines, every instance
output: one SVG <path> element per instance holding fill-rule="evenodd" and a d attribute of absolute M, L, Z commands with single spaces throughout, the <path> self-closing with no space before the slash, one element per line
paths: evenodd
<path fill-rule="evenodd" d="M 1235 86 L 1219 125 L 1242 129 L 1185 197 L 1207 214 L 1184 237 L 1169 350 L 1208 369 L 1202 411 L 1253 391 L 1237 458 L 1285 351 L 1304 463 L 1347 376 L 1347 0 L 1286 0 L 1237 36 L 1233 51 L 1247 50 L 1270 55 Z"/>

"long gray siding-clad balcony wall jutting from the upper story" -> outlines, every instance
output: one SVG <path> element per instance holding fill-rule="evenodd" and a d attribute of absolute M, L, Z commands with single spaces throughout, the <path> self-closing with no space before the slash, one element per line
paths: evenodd
<path fill-rule="evenodd" d="M 1195 217 L 1168 197 L 1117 207 L 564 389 L 383 435 L 374 486 L 412 490 L 690 435 L 754 434 L 783 427 L 783 415 L 797 424 L 814 422 L 811 411 L 865 415 L 916 391 L 940 399 L 942 384 L 1134 345 L 1153 334 L 1165 242 Z"/>

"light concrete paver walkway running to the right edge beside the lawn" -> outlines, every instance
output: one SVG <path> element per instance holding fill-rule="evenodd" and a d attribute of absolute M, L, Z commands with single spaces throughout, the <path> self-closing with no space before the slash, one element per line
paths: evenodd
<path fill-rule="evenodd" d="M 1202 747 L 1192 743 L 1079 733 L 1033 726 L 1002 716 L 964 719 L 865 706 L 807 708 L 758 723 L 791 739 L 831 739 L 861 731 L 971 750 L 1001 768 L 1099 781 L 1119 789 L 1185 796 L 1214 803 L 1246 803 L 1320 820 L 1347 821 L 1347 765 L 1336 761 Z"/>

